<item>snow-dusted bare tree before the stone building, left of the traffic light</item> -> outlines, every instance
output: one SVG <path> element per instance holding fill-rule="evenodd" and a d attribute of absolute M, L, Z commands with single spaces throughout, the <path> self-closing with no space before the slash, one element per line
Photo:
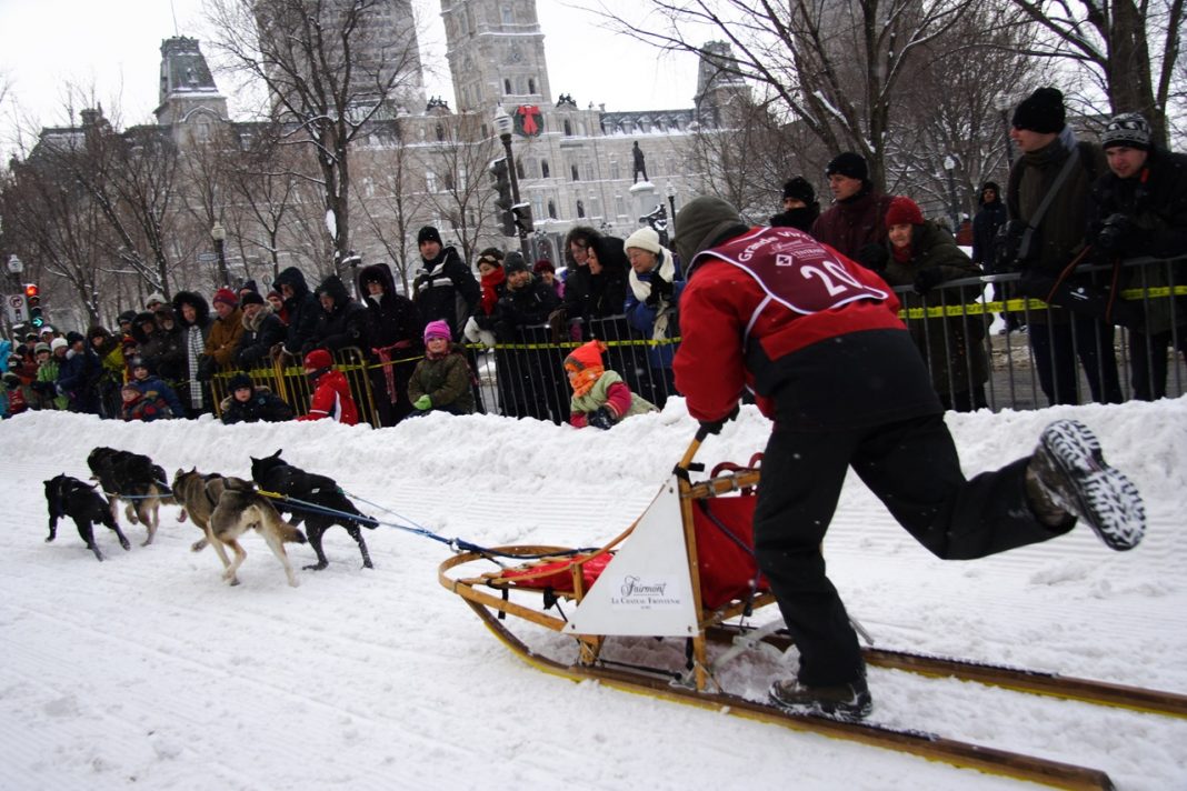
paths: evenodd
<path fill-rule="evenodd" d="M 350 251 L 350 151 L 419 87 L 414 28 L 383 25 L 383 0 L 211 0 L 216 49 L 267 85 L 285 139 L 317 161 L 335 270 Z M 305 173 L 296 171 L 301 178 Z"/>

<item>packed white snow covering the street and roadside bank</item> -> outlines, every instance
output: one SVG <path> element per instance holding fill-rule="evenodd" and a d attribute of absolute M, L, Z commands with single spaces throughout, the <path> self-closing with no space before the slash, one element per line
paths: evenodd
<path fill-rule="evenodd" d="M 825 551 L 876 644 L 1187 693 L 1187 400 L 951 415 L 965 471 L 1030 451 L 1061 416 L 1092 426 L 1141 487 L 1145 542 L 1091 531 L 973 562 L 918 547 L 850 478 Z M 109 445 L 248 477 L 249 455 L 337 478 L 363 510 L 482 544 L 589 546 L 617 535 L 692 438 L 683 401 L 609 433 L 432 416 L 330 423 L 123 425 L 70 414 L 0 423 L 0 789 L 1002 789 L 1014 783 L 776 726 L 573 684 L 504 649 L 437 582 L 444 543 L 368 531 L 374 570 L 326 534 L 330 567 L 286 585 L 259 536 L 226 586 L 198 531 L 125 522 L 131 551 L 72 523 L 45 543 L 42 481 L 87 478 Z M 699 460 L 744 461 L 753 408 Z M 362 505 L 362 503 L 361 503 Z M 298 564 L 307 547 L 290 544 Z M 774 617 L 774 611 L 762 618 Z M 794 663 L 794 656 L 788 658 Z M 768 678 L 747 688 L 761 694 Z M 1187 721 L 871 669 L 872 720 L 1102 768 L 1122 789 L 1187 789 Z"/>

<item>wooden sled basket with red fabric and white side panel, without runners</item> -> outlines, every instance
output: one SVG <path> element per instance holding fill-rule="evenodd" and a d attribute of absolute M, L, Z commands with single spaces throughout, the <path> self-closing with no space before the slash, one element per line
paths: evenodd
<path fill-rule="evenodd" d="M 645 512 L 604 547 L 497 547 L 494 553 L 522 562 L 477 575 L 469 567 L 490 559 L 463 553 L 442 563 L 440 583 L 480 614 L 515 615 L 577 638 L 582 662 L 596 662 L 611 636 L 684 637 L 703 657 L 705 629 L 749 615 L 774 597 L 754 557 L 757 457 L 693 483 L 688 470 L 700 439 Z M 704 681 L 698 672 L 698 688 Z"/>

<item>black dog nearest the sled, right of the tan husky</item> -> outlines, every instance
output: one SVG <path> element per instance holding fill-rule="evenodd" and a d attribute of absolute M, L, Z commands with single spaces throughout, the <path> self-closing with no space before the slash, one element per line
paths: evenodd
<path fill-rule="evenodd" d="M 358 544 L 358 551 L 363 555 L 363 568 L 375 568 L 372 566 L 370 555 L 367 553 L 367 542 L 360 525 L 374 530 L 379 522 L 369 516 L 364 516 L 355 508 L 355 504 L 347 499 L 347 496 L 338 489 L 338 484 L 332 478 L 305 472 L 294 467 L 280 458 L 280 451 L 264 459 L 252 459 L 252 479 L 265 492 L 284 495 L 293 500 L 310 503 L 315 506 L 354 513 L 358 518 L 339 516 L 338 513 L 323 513 L 316 509 L 307 509 L 300 503 L 292 503 L 281 499 L 273 500 L 277 510 L 292 513 L 290 519 L 293 527 L 305 522 L 305 530 L 309 534 L 309 544 L 317 553 L 317 564 L 306 566 L 307 569 L 319 570 L 329 564 L 325 553 L 322 551 L 322 534 L 334 524 L 345 528 L 350 537 Z"/>

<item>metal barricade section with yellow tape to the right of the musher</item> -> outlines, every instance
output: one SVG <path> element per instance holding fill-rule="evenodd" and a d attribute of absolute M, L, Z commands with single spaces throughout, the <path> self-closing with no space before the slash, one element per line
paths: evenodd
<path fill-rule="evenodd" d="M 910 287 L 895 292 L 933 384 L 941 397 L 947 396 L 946 406 L 954 407 L 959 398 L 953 396 L 976 393 L 980 385 L 985 406 L 994 410 L 1035 409 L 1182 395 L 1187 388 L 1185 272 L 1187 259 L 1182 257 L 1124 262 L 1113 299 L 1126 304 L 1113 304 L 1112 321 L 1103 318 L 1107 299 L 1094 304 L 1100 310 L 1093 315 L 1084 312 L 1093 307 L 1090 295 L 1073 288 L 1060 301 L 1078 310 L 1052 307 L 1022 295 L 1017 273 L 948 281 L 926 296 L 913 294 Z M 1115 276 L 1111 266 L 1075 270 L 1077 276 L 1093 273 L 1110 282 Z M 975 296 L 969 296 L 970 291 Z M 1115 324 L 1122 310 L 1140 314 L 1149 332 Z M 1026 330 L 1007 331 L 1002 325 L 1009 315 Z M 985 328 L 979 332 L 978 327 Z M 988 369 L 985 377 L 979 376 L 978 358 Z"/>

